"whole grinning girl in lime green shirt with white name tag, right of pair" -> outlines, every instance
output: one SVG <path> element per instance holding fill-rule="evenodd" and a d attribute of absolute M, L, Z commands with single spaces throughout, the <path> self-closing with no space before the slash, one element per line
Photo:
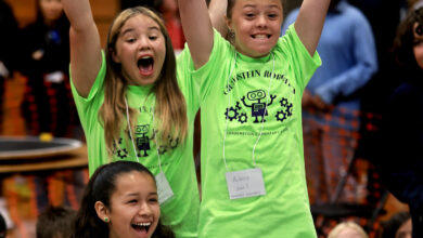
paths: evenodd
<path fill-rule="evenodd" d="M 222 1 L 226 4 L 226 0 Z M 316 237 L 303 153 L 302 95 L 330 0 L 304 0 L 280 38 L 282 0 L 229 0 L 228 42 L 204 0 L 179 0 L 200 81 L 198 237 Z"/>

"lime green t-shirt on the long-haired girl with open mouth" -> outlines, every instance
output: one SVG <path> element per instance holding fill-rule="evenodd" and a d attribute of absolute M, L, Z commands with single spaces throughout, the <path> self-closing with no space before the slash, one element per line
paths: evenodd
<path fill-rule="evenodd" d="M 182 55 L 178 61 L 183 61 Z M 102 57 L 101 69 L 87 98 L 78 95 L 72 83 L 72 92 L 87 138 L 90 174 L 110 161 L 137 161 L 138 157 L 139 162 L 157 175 L 161 172 L 161 161 L 162 170 L 174 191 L 174 197 L 161 206 L 162 222 L 170 226 L 177 237 L 196 237 L 200 196 L 193 159 L 193 127 L 200 105 L 197 85 L 191 78 L 181 78 L 179 71 L 183 72 L 187 69 L 178 67 L 178 83 L 187 103 L 189 133 L 184 142 L 178 140 L 167 143 L 158 142 L 158 148 L 155 140 L 157 124 L 153 122 L 155 95 L 149 94 L 152 87 L 129 85 L 127 89 L 128 105 L 139 113 L 137 122 L 131 121 L 131 124 L 136 124 L 131 133 L 133 144 L 129 131 L 123 130 L 118 145 L 114 145 L 114 154 L 111 158 L 106 151 L 104 130 L 98 116 L 104 102 L 106 72 L 104 53 Z M 178 65 L 183 66 L 183 64 Z"/>

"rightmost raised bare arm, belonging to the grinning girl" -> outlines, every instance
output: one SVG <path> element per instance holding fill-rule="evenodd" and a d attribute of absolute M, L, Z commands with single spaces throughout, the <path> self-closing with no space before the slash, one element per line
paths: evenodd
<path fill-rule="evenodd" d="M 324 18 L 331 0 L 304 0 L 295 30 L 310 55 L 313 55 L 323 29 Z"/>

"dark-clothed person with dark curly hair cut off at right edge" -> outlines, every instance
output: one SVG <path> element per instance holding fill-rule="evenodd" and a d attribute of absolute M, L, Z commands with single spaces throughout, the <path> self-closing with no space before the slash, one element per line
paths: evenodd
<path fill-rule="evenodd" d="M 376 169 L 388 190 L 410 208 L 413 238 L 423 237 L 423 1 L 400 23 L 393 47 L 402 80 L 388 97 Z"/>

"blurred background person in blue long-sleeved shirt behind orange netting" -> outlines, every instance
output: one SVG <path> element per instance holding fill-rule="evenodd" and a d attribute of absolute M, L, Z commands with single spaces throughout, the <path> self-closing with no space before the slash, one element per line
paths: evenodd
<path fill-rule="evenodd" d="M 296 19 L 286 17 L 282 34 Z M 303 95 L 303 130 L 307 183 L 311 203 L 332 201 L 355 156 L 360 128 L 357 92 L 377 70 L 374 37 L 368 19 L 344 0 L 332 0 L 318 45 L 322 66 Z M 366 181 L 364 181 L 366 182 Z M 363 186 L 349 176 L 344 202 L 363 199 Z"/>

